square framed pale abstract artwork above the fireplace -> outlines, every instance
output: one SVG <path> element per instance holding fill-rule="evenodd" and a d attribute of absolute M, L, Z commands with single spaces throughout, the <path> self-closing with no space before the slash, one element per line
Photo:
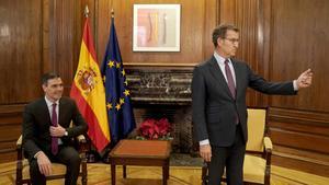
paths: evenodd
<path fill-rule="evenodd" d="M 133 51 L 180 51 L 180 4 L 134 4 Z"/>

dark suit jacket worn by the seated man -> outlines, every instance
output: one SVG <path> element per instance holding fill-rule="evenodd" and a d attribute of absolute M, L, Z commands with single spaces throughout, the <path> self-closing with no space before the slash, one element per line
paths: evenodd
<path fill-rule="evenodd" d="M 70 123 L 73 127 L 70 127 Z M 58 124 L 66 128 L 68 136 L 61 137 L 63 144 L 69 144 L 72 137 L 86 134 L 87 123 L 81 116 L 76 102 L 69 97 L 59 100 Z M 49 153 L 52 150 L 50 114 L 45 97 L 25 106 L 23 113 L 23 148 L 25 157 L 31 160 L 39 150 Z"/>

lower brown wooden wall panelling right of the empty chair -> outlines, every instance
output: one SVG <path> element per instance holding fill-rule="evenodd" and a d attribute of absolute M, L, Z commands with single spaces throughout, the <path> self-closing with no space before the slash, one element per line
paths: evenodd
<path fill-rule="evenodd" d="M 270 107 L 273 163 L 329 176 L 328 123 L 326 113 Z"/>

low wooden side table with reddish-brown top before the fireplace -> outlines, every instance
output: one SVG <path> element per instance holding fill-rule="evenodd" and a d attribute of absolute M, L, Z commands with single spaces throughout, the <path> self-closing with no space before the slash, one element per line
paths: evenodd
<path fill-rule="evenodd" d="M 115 165 L 123 165 L 126 178 L 126 165 L 162 166 L 162 184 L 169 178 L 170 141 L 162 140 L 121 140 L 110 152 L 112 185 L 115 185 Z"/>

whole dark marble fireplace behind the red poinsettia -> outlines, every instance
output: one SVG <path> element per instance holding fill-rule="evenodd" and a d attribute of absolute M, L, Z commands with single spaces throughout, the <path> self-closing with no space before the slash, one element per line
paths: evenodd
<path fill-rule="evenodd" d="M 137 127 L 146 118 L 167 117 L 172 124 L 173 152 L 193 148 L 192 70 L 126 69 Z"/>

